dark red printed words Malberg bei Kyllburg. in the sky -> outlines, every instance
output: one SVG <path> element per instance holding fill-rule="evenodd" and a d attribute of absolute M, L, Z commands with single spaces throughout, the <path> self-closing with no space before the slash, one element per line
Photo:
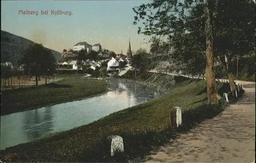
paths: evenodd
<path fill-rule="evenodd" d="M 19 10 L 18 14 L 22 15 L 72 15 L 71 11 L 62 11 L 62 10 L 41 10 L 41 11 L 30 11 L 30 10 Z"/>

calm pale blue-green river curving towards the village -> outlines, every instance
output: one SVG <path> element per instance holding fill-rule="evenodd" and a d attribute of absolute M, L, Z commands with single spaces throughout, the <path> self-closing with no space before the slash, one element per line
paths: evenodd
<path fill-rule="evenodd" d="M 1 116 L 1 149 L 66 131 L 151 100 L 162 93 L 124 80 L 108 80 L 103 95 Z"/>

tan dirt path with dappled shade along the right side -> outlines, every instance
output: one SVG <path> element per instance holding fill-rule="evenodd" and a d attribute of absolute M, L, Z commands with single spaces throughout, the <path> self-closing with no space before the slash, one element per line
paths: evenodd
<path fill-rule="evenodd" d="M 255 156 L 255 83 L 215 118 L 152 151 L 146 162 L 253 162 Z"/>

